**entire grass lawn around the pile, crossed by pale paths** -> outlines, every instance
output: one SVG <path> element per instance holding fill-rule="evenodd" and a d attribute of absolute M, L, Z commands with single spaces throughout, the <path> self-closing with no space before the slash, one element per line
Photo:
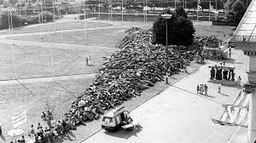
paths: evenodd
<path fill-rule="evenodd" d="M 116 26 L 116 28 L 107 28 L 113 25 L 108 23 L 102 24 L 102 22 L 89 22 L 88 27 L 105 26 L 106 28 L 88 30 L 86 46 L 83 45 L 84 31 L 63 32 L 63 44 L 61 46 L 50 44 L 61 43 L 61 33 L 46 34 L 44 40 L 49 42 L 45 43 L 47 46 L 41 45 L 40 35 L 15 37 L 16 40 L 27 41 L 27 44 L 21 44 L 19 41 L 14 43 L 15 71 L 13 71 L 13 50 L 9 44 L 0 43 L 0 80 L 13 79 L 14 74 L 19 78 L 52 76 L 52 59 L 50 54 L 53 55 L 54 70 L 57 76 L 98 72 L 104 62 L 102 57 L 108 56 L 117 50 L 114 47 L 124 36 L 125 29 L 131 26 L 150 27 L 151 24 L 144 22 L 137 22 L 136 24 L 125 22 L 122 24 L 119 22 L 119 26 Z M 76 29 L 76 25 L 76 22 L 62 23 L 62 27 L 66 26 L 66 29 Z M 52 26 L 54 24 L 49 27 L 52 28 Z M 230 35 L 233 32 L 232 28 L 231 26 L 211 26 L 209 31 L 208 26 L 202 24 L 197 29 L 196 34 L 205 36 L 215 35 L 224 39 L 224 33 L 227 36 Z M 38 26 L 23 27 L 16 29 L 14 33 L 34 32 L 37 29 Z M 4 32 L 7 31 L 0 31 L 2 34 Z M 54 40 L 51 39 L 52 37 L 54 37 Z M 91 55 L 94 66 L 85 65 L 85 55 Z M 70 106 L 70 102 L 73 101 L 74 95 L 82 94 L 93 79 L 93 77 L 87 77 L 59 80 L 56 83 L 24 83 L 29 90 L 25 89 L 21 84 L 0 84 L 0 123 L 3 125 L 3 134 L 6 136 L 7 130 L 12 129 L 11 117 L 23 110 L 27 111 L 28 125 L 38 122 L 42 123 L 40 113 L 44 111 L 46 103 L 49 103 L 49 106 L 55 106 L 54 115 L 57 119 L 61 118 Z M 20 128 L 27 129 L 27 126 L 23 124 Z"/>

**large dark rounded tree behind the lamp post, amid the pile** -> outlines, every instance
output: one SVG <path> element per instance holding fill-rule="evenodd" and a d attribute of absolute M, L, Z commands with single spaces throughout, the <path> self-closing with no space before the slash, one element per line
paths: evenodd
<path fill-rule="evenodd" d="M 170 9 L 164 10 L 161 14 L 172 14 L 172 18 L 167 20 L 168 45 L 188 46 L 193 43 L 195 28 L 191 20 L 184 18 Z M 154 43 L 166 44 L 166 20 L 160 15 L 153 25 Z"/>

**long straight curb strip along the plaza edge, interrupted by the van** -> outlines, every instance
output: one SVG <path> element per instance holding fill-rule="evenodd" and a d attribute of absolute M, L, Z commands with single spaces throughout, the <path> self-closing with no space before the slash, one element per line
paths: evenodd
<path fill-rule="evenodd" d="M 190 75 L 190 73 L 193 73 L 195 70 L 199 69 L 201 66 L 203 66 L 203 65 L 200 65 L 200 66 L 196 67 L 192 72 L 187 73 L 185 76 L 181 77 L 180 79 L 178 79 L 178 80 L 177 80 L 177 81 L 175 81 L 174 83 L 170 84 L 170 87 L 172 87 L 172 85 L 173 85 L 173 84 L 175 84 L 175 83 L 177 83 L 177 82 L 181 81 L 184 77 L 189 76 L 189 75 Z M 168 87 L 168 88 L 170 88 L 170 87 Z M 166 89 L 168 89 L 168 88 L 166 88 Z M 163 92 L 163 91 L 165 91 L 166 89 L 162 89 L 162 90 L 160 90 L 160 92 L 159 92 L 159 93 L 157 93 L 157 94 L 155 94 L 154 96 L 150 97 L 148 100 L 152 100 L 155 96 L 159 95 L 160 93 L 162 93 L 162 92 Z M 139 105 L 137 105 L 137 106 L 135 106 L 135 107 L 131 108 L 131 110 L 129 110 L 129 112 L 131 112 L 131 111 L 133 111 L 133 110 L 137 109 L 137 107 L 139 107 L 139 106 L 142 106 L 142 105 L 143 105 L 144 103 L 146 103 L 148 100 L 145 100 L 145 101 L 143 101 L 141 104 L 139 104 Z M 86 138 L 84 138 L 83 140 L 80 140 L 80 141 L 79 141 L 79 143 L 82 143 L 84 140 L 89 139 L 91 136 L 93 136 L 93 135 L 97 134 L 97 133 L 98 133 L 98 132 L 100 132 L 101 130 L 102 130 L 102 129 L 99 129 L 99 130 L 97 130 L 95 133 L 90 134 L 89 136 L 87 136 L 87 137 L 86 137 Z"/>

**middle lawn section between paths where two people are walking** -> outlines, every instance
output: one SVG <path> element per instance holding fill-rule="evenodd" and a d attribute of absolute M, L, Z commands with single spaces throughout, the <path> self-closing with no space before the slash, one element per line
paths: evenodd
<path fill-rule="evenodd" d="M 50 77 L 53 75 L 53 67 L 55 76 L 95 73 L 102 67 L 102 56 L 108 56 L 115 51 L 108 48 L 85 49 L 76 45 L 72 49 L 15 45 L 14 49 L 15 71 L 9 44 L 0 44 L 0 80 L 14 79 L 13 73 L 18 78 Z M 93 66 L 86 66 L 85 54 L 91 55 Z"/>

